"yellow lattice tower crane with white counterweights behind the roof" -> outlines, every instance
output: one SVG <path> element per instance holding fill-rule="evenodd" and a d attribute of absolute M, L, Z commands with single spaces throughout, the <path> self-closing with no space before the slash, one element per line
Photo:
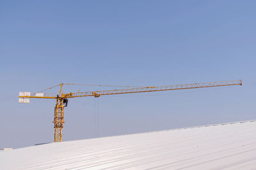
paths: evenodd
<path fill-rule="evenodd" d="M 117 90 L 99 90 L 92 92 L 70 92 L 63 93 L 63 85 L 77 85 L 77 84 L 69 84 L 69 83 L 61 83 L 54 87 L 60 87 L 59 93 L 56 95 L 46 94 L 42 92 L 31 93 L 31 92 L 20 92 L 19 94 L 19 103 L 29 103 L 30 98 L 39 98 L 39 99 L 56 99 L 56 106 L 54 108 L 54 142 L 62 141 L 62 129 L 64 122 L 64 107 L 67 106 L 68 99 L 74 97 L 100 97 L 105 95 L 113 95 L 113 94 L 131 94 L 131 93 L 141 93 L 141 92 L 157 92 L 157 91 L 165 91 L 165 90 L 182 90 L 182 89 L 198 89 L 198 88 L 206 88 L 206 87 L 223 87 L 230 85 L 242 85 L 241 80 L 234 81 L 214 81 L 209 83 L 191 83 L 191 84 L 181 84 L 181 85 L 166 85 L 166 86 L 158 86 L 158 87 L 136 87 L 129 89 L 117 89 Z M 99 85 L 104 86 L 104 85 Z M 50 87 L 48 89 L 52 89 Z M 45 90 L 48 90 L 45 89 Z"/>

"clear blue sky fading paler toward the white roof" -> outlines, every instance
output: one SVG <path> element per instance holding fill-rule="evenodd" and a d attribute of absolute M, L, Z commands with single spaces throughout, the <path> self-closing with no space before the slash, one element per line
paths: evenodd
<path fill-rule="evenodd" d="M 18 94 L 61 82 L 156 86 L 243 80 L 237 87 L 100 97 L 99 136 L 255 119 L 255 5 L 0 1 L 0 148 L 53 141 L 56 101 L 19 104 Z M 93 97 L 71 99 L 63 140 L 93 138 L 94 110 Z"/>

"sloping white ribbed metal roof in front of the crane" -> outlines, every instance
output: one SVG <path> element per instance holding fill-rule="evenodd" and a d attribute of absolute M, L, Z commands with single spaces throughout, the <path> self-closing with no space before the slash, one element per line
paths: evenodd
<path fill-rule="evenodd" d="M 19 148 L 0 169 L 255 169 L 256 120 Z"/>

